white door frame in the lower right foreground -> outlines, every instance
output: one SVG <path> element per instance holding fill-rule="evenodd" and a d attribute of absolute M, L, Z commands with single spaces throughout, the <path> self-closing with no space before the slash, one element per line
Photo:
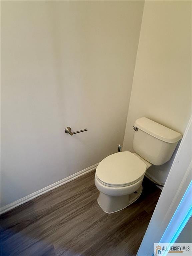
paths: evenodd
<path fill-rule="evenodd" d="M 137 252 L 137 256 L 152 256 L 153 243 L 159 243 L 160 241 L 170 243 L 170 239 L 175 235 L 175 230 L 179 228 L 180 223 L 172 221 L 172 228 L 169 229 L 169 236 L 166 236 L 166 229 L 170 226 L 176 210 L 179 210 L 179 204 L 184 197 L 186 190 L 189 188 L 192 179 L 191 159 L 192 117 L 187 125 L 164 188 Z M 190 197 L 190 199 L 192 199 L 191 192 Z M 180 207 L 180 214 L 182 211 L 183 210 Z"/>

